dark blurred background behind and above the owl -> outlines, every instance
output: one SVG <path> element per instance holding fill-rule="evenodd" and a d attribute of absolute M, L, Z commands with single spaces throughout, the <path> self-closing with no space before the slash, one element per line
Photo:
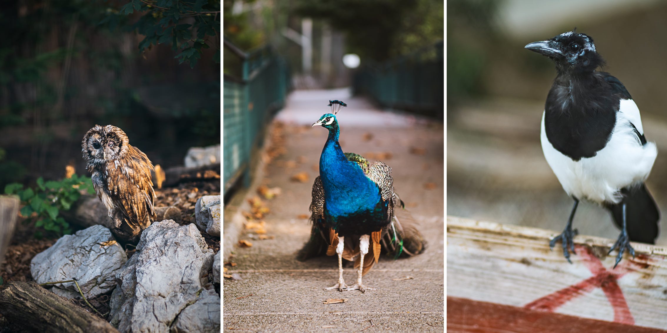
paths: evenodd
<path fill-rule="evenodd" d="M 219 8 L 3 1 L 0 188 L 63 178 L 67 165 L 86 174 L 81 139 L 95 124 L 120 127 L 163 168 L 219 143 Z"/>

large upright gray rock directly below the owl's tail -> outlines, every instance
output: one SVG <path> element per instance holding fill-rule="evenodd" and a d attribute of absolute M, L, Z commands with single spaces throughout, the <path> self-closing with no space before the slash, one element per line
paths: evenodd
<path fill-rule="evenodd" d="M 197 332 L 187 320 L 179 320 L 176 328 L 175 319 L 203 302 L 201 294 L 207 291 L 202 280 L 207 278 L 201 276 L 212 263 L 213 250 L 194 224 L 179 226 L 173 220 L 151 224 L 143 230 L 137 252 L 116 274 L 119 288 L 111 294 L 109 322 L 122 333 Z M 187 316 L 192 316 L 190 311 Z"/>

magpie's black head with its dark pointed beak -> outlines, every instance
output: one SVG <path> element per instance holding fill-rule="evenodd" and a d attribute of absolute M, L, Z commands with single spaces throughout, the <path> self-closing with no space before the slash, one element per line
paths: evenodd
<path fill-rule="evenodd" d="M 548 41 L 530 43 L 526 49 L 550 57 L 556 62 L 558 71 L 592 72 L 604 65 L 593 39 L 576 31 L 562 33 Z"/>

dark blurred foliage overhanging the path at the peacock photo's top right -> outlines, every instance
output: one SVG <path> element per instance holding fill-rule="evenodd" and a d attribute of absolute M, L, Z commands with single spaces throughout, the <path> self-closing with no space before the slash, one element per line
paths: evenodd
<path fill-rule="evenodd" d="M 384 61 L 431 45 L 444 34 L 442 0 L 297 0 L 296 13 L 346 33 L 350 52 Z"/>

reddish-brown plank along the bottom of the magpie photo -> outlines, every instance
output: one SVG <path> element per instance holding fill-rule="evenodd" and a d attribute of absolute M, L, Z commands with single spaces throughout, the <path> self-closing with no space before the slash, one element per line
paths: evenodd
<path fill-rule="evenodd" d="M 666 330 L 447 296 L 447 332 L 667 333 Z"/>

